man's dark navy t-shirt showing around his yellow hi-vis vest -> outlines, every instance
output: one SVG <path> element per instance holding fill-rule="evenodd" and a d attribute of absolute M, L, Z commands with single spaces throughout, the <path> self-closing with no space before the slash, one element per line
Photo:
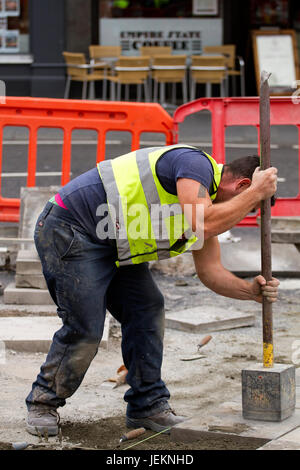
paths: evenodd
<path fill-rule="evenodd" d="M 156 163 L 156 173 L 163 188 L 176 195 L 178 178 L 199 181 L 209 191 L 213 180 L 213 168 L 201 150 L 176 148 L 165 153 Z M 97 168 L 93 168 L 63 186 L 59 195 L 69 213 L 90 236 L 99 241 L 96 226 L 101 217 L 97 207 L 107 202 L 106 192 Z"/>

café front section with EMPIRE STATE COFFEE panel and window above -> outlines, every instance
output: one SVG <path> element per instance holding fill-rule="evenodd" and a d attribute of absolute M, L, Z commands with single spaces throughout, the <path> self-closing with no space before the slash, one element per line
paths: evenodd
<path fill-rule="evenodd" d="M 123 55 L 141 46 L 171 46 L 173 54 L 201 54 L 223 41 L 222 4 L 218 0 L 100 1 L 99 42 L 118 45 Z"/>

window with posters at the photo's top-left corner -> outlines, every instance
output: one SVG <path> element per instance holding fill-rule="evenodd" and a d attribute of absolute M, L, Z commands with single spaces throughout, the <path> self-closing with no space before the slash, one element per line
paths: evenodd
<path fill-rule="evenodd" d="M 0 0 L 0 53 L 29 52 L 29 0 Z"/>

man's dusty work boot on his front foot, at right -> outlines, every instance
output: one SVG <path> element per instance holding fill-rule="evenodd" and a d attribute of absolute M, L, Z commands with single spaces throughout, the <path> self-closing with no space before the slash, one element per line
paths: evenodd
<path fill-rule="evenodd" d="M 177 416 L 175 411 L 171 408 L 161 411 L 153 416 L 147 416 L 147 418 L 130 418 L 126 417 L 126 426 L 128 428 L 146 428 L 152 431 L 160 432 L 175 426 L 187 418 L 184 416 Z M 166 434 L 169 434 L 170 430 Z"/>

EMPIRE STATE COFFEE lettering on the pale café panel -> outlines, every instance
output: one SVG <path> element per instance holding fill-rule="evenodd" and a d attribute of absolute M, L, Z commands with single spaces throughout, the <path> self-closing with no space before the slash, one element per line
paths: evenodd
<path fill-rule="evenodd" d="M 121 31 L 123 51 L 138 50 L 141 46 L 171 46 L 177 51 L 201 51 L 201 31 Z"/>

